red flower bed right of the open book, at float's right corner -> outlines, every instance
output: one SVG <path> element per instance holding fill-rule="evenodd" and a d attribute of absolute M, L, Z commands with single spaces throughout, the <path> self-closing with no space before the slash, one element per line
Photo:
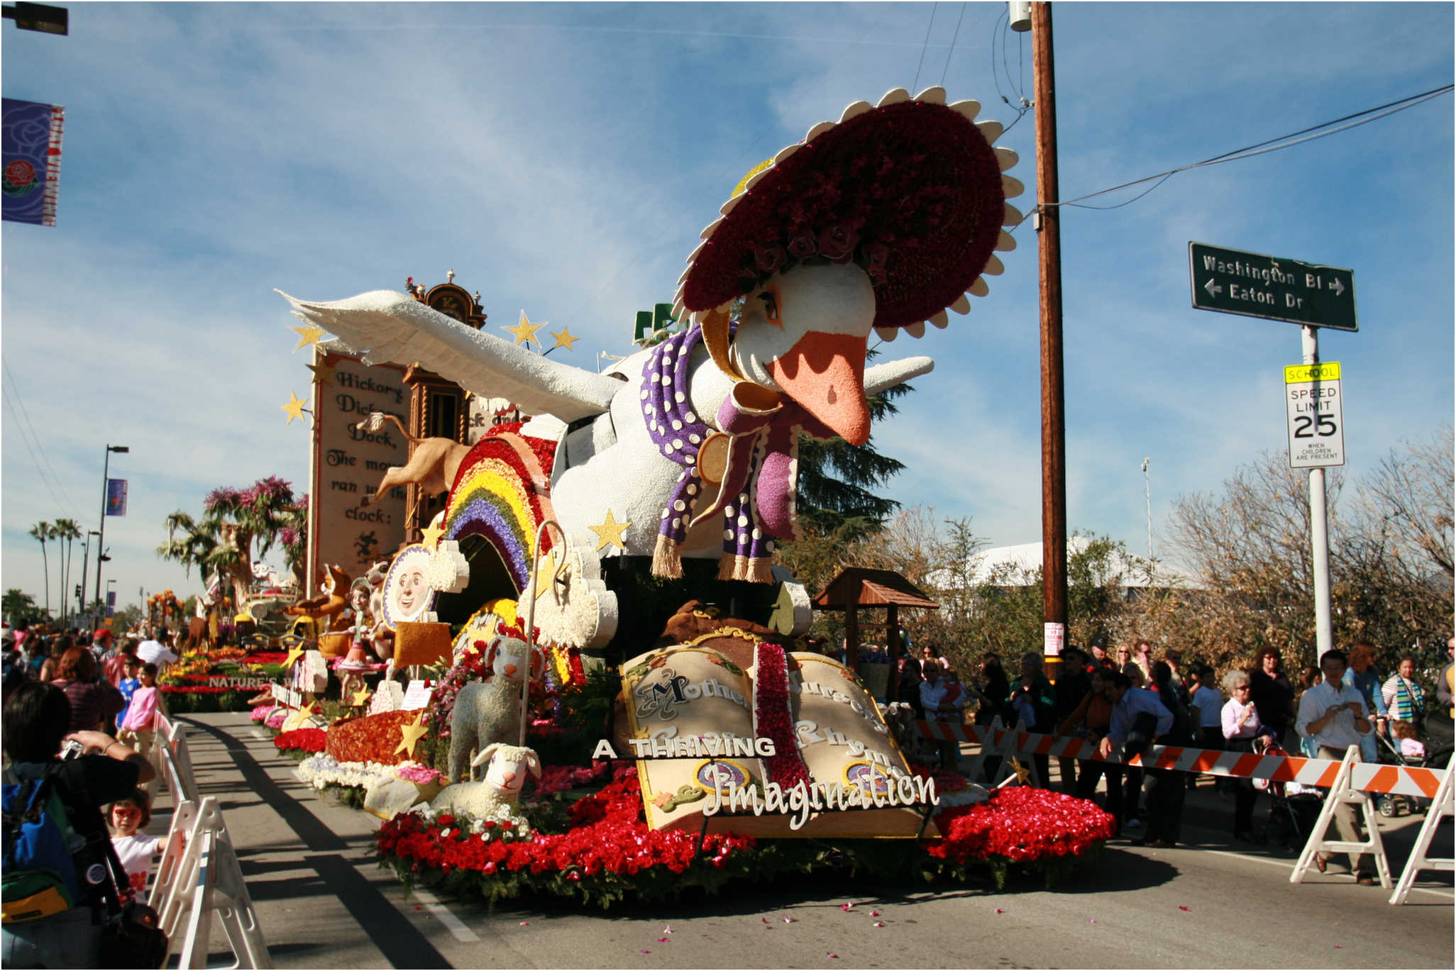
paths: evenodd
<path fill-rule="evenodd" d="M 927 840 L 925 852 L 952 863 L 1080 856 L 1115 825 L 1093 802 L 1031 786 L 997 789 L 986 802 L 938 814 L 935 824 L 942 839 Z"/>

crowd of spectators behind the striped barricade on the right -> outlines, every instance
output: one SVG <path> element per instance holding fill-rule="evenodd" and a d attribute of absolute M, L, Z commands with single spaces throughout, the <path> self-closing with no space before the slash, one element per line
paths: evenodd
<path fill-rule="evenodd" d="M 1447 646 L 1456 657 L 1456 638 Z M 1449 757 L 1452 665 L 1440 673 L 1431 703 L 1415 681 L 1414 657 L 1404 655 L 1396 671 L 1382 678 L 1376 654 L 1369 642 L 1353 643 L 1348 658 L 1328 651 L 1318 668 L 1297 671 L 1291 683 L 1278 651 L 1264 649 L 1248 667 L 1226 671 L 1220 683 L 1211 665 L 1185 659 L 1176 648 L 1155 658 L 1152 643 L 1137 641 L 1111 654 L 1104 645 L 1067 646 L 1056 681 L 1045 677 L 1038 652 L 1018 658 L 1015 678 L 1008 678 L 1000 657 L 992 652 L 983 655 L 974 678 L 961 681 L 935 645 L 920 645 L 914 657 L 900 659 L 897 677 L 898 697 L 922 719 L 989 725 L 1000 718 L 1008 728 L 1092 740 L 1102 757 L 1114 750 L 1125 757 L 1152 744 L 1290 751 L 1334 760 L 1357 745 L 1364 761 L 1379 761 L 1382 754 L 1388 760 L 1390 754 Z M 948 690 L 952 681 L 955 690 Z M 1377 742 L 1377 737 L 1389 745 Z M 936 741 L 930 754 L 942 766 L 954 766 L 958 751 Z M 1034 754 L 1031 761 L 1040 785 L 1050 786 L 1050 758 Z M 984 770 L 987 779 L 994 779 L 999 758 L 987 757 Z M 1061 757 L 1059 770 L 1067 792 L 1080 798 L 1101 795 L 1118 833 L 1147 846 L 1178 843 L 1185 790 L 1195 789 L 1200 780 L 1200 773 Z M 1254 814 L 1259 790 L 1254 782 L 1229 776 L 1211 780 L 1219 793 L 1232 798 L 1233 839 L 1258 839 Z M 1351 806 L 1342 806 L 1335 820 L 1340 839 L 1357 839 L 1353 834 L 1358 833 L 1358 820 Z M 1324 868 L 1328 860 L 1318 863 Z M 1370 878 L 1366 860 L 1351 859 L 1350 868 L 1360 882 Z"/>

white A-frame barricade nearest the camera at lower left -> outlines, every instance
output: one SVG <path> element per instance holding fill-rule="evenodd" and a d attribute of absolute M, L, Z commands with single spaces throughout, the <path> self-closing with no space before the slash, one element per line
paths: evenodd
<path fill-rule="evenodd" d="M 191 830 L 183 837 L 172 882 L 165 888 L 159 882 L 159 889 L 163 891 L 163 907 L 157 913 L 170 954 L 178 955 L 178 968 L 207 965 L 214 917 L 221 922 L 236 959 L 229 967 L 272 967 L 237 855 L 214 796 L 204 798 L 197 808 Z"/>

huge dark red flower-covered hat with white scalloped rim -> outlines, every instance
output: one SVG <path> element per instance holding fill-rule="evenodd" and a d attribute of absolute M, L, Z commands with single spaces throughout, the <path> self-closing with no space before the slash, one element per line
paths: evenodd
<path fill-rule="evenodd" d="M 855 102 L 839 122 L 753 172 L 702 231 L 678 280 L 678 319 L 724 309 L 801 262 L 853 261 L 875 288 L 875 329 L 945 326 L 945 310 L 968 313 L 965 293 L 984 297 L 981 274 L 1002 272 L 993 250 L 1016 243 L 1002 230 L 1022 215 L 1002 175 L 1016 153 L 993 148 L 1002 125 L 974 124 L 974 100 L 945 103 L 945 89 L 914 99 L 897 87 L 879 105 Z"/>

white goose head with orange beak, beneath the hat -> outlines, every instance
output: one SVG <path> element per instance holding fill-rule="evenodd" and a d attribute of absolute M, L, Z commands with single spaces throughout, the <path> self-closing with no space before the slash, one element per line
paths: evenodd
<path fill-rule="evenodd" d="M 865 345 L 875 291 L 855 263 L 796 266 L 748 293 L 732 361 L 852 445 L 869 438 Z"/>

